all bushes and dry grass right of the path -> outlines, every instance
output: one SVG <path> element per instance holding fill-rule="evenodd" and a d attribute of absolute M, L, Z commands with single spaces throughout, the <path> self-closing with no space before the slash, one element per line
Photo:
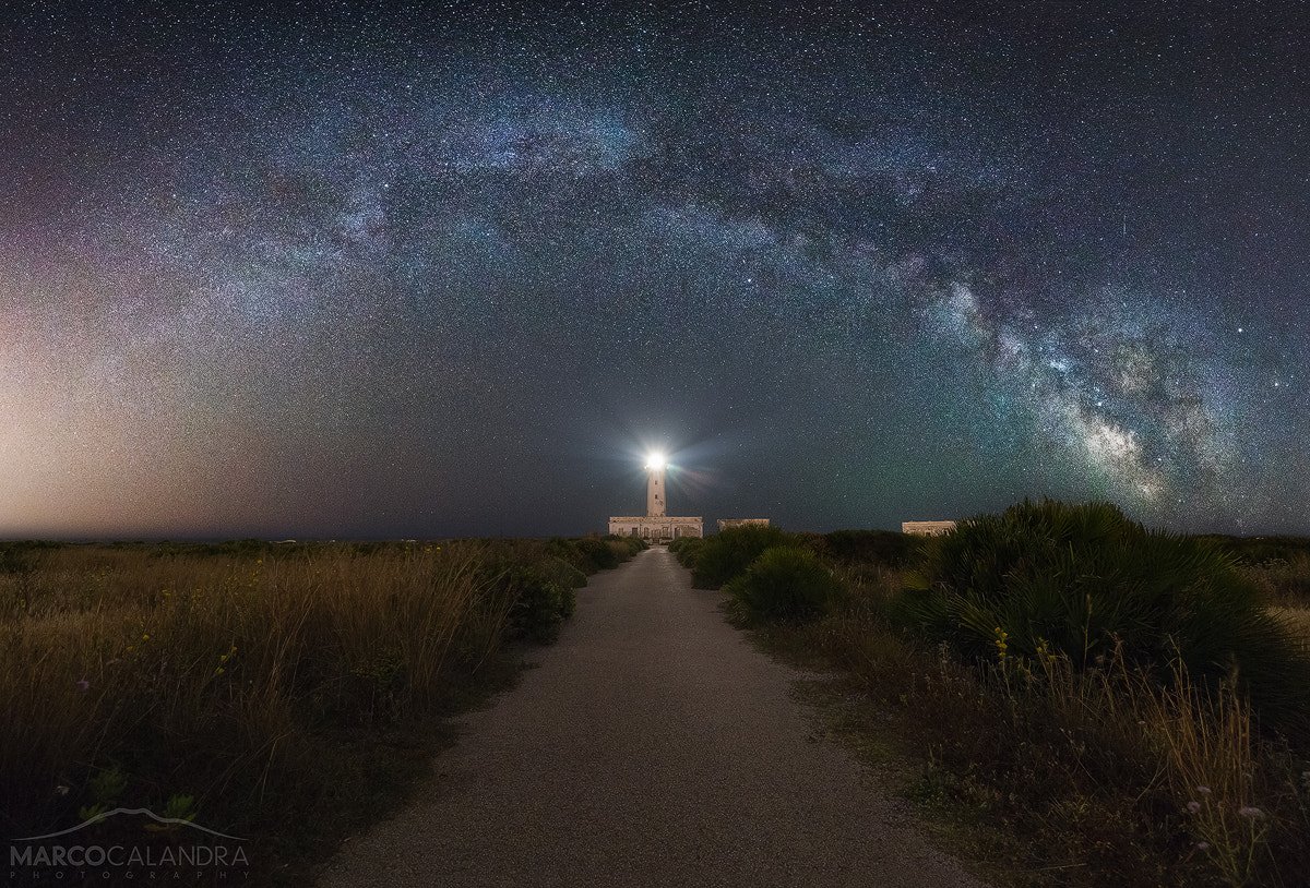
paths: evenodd
<path fill-rule="evenodd" d="M 909 761 L 997 884 L 1305 884 L 1310 541 L 1056 502 L 931 538 L 761 530 L 671 547 L 768 650 L 836 671 L 861 701 L 836 733 Z"/>

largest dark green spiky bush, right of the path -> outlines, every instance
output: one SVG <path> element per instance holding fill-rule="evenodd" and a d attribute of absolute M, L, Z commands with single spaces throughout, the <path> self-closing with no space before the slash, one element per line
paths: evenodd
<path fill-rule="evenodd" d="M 897 613 L 971 660 L 1121 656 L 1161 680 L 1238 686 L 1271 720 L 1302 716 L 1310 664 L 1212 541 L 1148 532 L 1115 506 L 1024 500 L 925 544 Z"/>

